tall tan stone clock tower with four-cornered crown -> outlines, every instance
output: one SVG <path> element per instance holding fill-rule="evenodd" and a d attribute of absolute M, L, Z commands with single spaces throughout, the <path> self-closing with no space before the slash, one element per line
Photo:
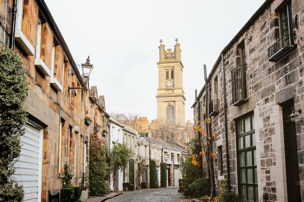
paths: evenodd
<path fill-rule="evenodd" d="M 174 51 L 165 50 L 162 44 L 159 48 L 157 118 L 161 121 L 185 125 L 185 95 L 183 91 L 183 64 L 178 39 L 175 39 Z"/>

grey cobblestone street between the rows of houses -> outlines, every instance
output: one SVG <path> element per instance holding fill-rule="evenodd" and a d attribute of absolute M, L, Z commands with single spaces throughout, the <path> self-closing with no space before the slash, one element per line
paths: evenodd
<path fill-rule="evenodd" d="M 123 194 L 116 196 L 109 201 L 119 201 L 119 202 L 178 202 L 178 201 L 187 201 L 184 199 L 182 194 L 178 192 L 179 187 L 166 187 L 160 189 L 140 189 L 134 191 L 123 192 Z"/>

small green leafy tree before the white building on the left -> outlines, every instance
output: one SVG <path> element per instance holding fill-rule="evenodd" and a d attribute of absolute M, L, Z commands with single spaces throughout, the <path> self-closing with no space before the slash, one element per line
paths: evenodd
<path fill-rule="evenodd" d="M 129 163 L 129 159 L 134 155 L 133 149 L 129 148 L 125 143 L 115 142 L 109 151 L 109 165 L 113 179 L 114 191 L 116 191 L 116 171 L 125 171 Z"/>

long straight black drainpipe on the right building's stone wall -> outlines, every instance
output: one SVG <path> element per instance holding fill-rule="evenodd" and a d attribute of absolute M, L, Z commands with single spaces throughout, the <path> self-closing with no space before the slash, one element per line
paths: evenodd
<path fill-rule="evenodd" d="M 227 184 L 228 191 L 230 192 L 230 164 L 229 164 L 229 148 L 228 148 L 228 124 L 227 124 L 227 105 L 226 105 L 226 85 L 225 85 L 225 65 L 224 65 L 224 55 L 222 55 L 222 68 L 223 68 L 223 95 L 224 95 L 224 112 L 225 112 L 225 139 L 226 139 L 226 161 L 227 161 Z"/>

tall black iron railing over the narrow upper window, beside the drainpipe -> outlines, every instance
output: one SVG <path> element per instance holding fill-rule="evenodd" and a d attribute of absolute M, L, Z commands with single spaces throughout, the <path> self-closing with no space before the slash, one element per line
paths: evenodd
<path fill-rule="evenodd" d="M 240 106 L 247 101 L 246 64 L 237 65 L 231 71 L 232 105 Z"/>

